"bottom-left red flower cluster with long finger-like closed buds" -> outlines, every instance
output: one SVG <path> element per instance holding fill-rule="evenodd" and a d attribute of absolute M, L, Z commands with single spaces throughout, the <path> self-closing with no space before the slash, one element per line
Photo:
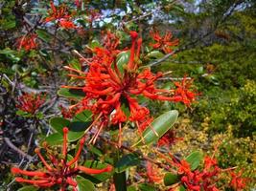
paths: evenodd
<path fill-rule="evenodd" d="M 68 128 L 63 128 L 63 146 L 62 146 L 62 156 L 54 155 L 54 152 L 50 150 L 46 142 L 43 146 L 46 150 L 46 155 L 49 157 L 51 164 L 49 164 L 46 159 L 40 153 L 40 149 L 36 148 L 35 153 L 38 155 L 39 159 L 44 165 L 44 169 L 40 171 L 27 171 L 16 167 L 12 167 L 12 174 L 23 175 L 27 177 L 32 177 L 33 179 L 23 179 L 21 177 L 15 178 L 18 182 L 31 183 L 38 187 L 50 188 L 54 185 L 59 185 L 61 191 L 67 190 L 70 185 L 73 187 L 74 191 L 77 191 L 77 181 L 76 176 L 82 172 L 85 174 L 102 174 L 105 172 L 112 171 L 112 166 L 108 165 L 103 169 L 92 169 L 84 166 L 78 165 L 78 160 L 81 156 L 82 147 L 85 138 L 81 138 L 80 146 L 73 159 L 67 159 L 67 134 Z"/>

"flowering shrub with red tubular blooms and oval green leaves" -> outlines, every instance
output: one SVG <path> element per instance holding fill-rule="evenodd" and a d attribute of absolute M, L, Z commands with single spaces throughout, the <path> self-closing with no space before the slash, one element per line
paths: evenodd
<path fill-rule="evenodd" d="M 5 185 L 8 190 L 246 189 L 243 171 L 221 168 L 216 151 L 212 157 L 171 152 L 176 142 L 185 141 L 175 134 L 175 108 L 192 111 L 202 95 L 193 77 L 176 77 L 175 71 L 156 66 L 182 50 L 176 34 L 167 30 L 161 35 L 152 26 L 148 33 L 142 23 L 134 24 L 145 15 L 124 17 L 109 27 L 107 17 L 119 10 L 104 10 L 107 3 L 12 3 L 5 6 L 15 13 L 19 28 L 7 25 L 6 35 L 17 30 L 12 37 L 16 43 L 0 50 L 3 63 L 14 71 L 1 74 L 5 108 L 0 124 L 3 149 L 10 147 L 22 158 L 8 166 L 13 178 Z M 138 14 L 139 5 L 134 8 L 129 9 Z M 47 98 L 29 93 L 15 97 L 37 88 Z M 151 102 L 167 107 L 161 111 Z M 24 126 L 20 131 L 15 127 L 19 121 Z M 20 146 L 18 138 L 25 144 Z"/>

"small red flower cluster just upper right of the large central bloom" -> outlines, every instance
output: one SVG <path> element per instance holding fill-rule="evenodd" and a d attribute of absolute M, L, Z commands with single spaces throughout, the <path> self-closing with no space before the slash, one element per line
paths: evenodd
<path fill-rule="evenodd" d="M 178 39 L 173 38 L 172 32 L 166 32 L 164 36 L 160 36 L 158 31 L 152 32 L 151 31 L 151 37 L 155 41 L 154 44 L 151 44 L 151 47 L 153 49 L 162 50 L 164 53 L 172 53 L 173 49 L 172 47 L 175 47 L 178 45 Z"/>

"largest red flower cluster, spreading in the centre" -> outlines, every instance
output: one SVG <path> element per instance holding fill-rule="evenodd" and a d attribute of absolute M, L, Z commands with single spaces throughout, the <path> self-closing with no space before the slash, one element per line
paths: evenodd
<path fill-rule="evenodd" d="M 103 48 L 95 48 L 95 55 L 91 59 L 85 60 L 89 69 L 86 72 L 65 67 L 75 74 L 69 76 L 84 79 L 84 86 L 62 86 L 62 88 L 81 89 L 85 97 L 77 106 L 81 109 L 89 109 L 94 117 L 99 121 L 96 141 L 100 131 L 109 124 L 118 124 L 121 136 L 121 124 L 128 119 L 133 121 L 139 132 L 142 132 L 151 123 L 150 110 L 138 103 L 136 96 L 146 96 L 150 99 L 183 101 L 189 104 L 194 100 L 190 91 L 186 90 L 189 86 L 186 81 L 180 85 L 176 83 L 176 90 L 162 90 L 155 85 L 156 80 L 163 74 L 152 74 L 150 69 L 139 70 L 140 49 L 142 39 L 138 38 L 137 32 L 129 32 L 131 38 L 131 48 L 129 50 L 128 64 L 122 72 L 117 65 L 117 50 L 119 38 L 111 33 L 107 33 Z M 175 92 L 175 94 L 174 94 Z M 189 94 L 189 96 L 188 96 Z M 128 106 L 129 116 L 123 110 L 123 106 Z M 89 129 L 88 129 L 89 130 Z"/>

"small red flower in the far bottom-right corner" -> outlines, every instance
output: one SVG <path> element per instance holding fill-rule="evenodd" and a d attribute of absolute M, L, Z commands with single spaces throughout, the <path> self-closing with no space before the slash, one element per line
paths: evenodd
<path fill-rule="evenodd" d="M 247 179 L 242 178 L 243 172 L 240 171 L 239 173 L 230 172 L 232 180 L 230 181 L 230 186 L 233 187 L 237 191 L 242 191 L 246 187 Z"/>

